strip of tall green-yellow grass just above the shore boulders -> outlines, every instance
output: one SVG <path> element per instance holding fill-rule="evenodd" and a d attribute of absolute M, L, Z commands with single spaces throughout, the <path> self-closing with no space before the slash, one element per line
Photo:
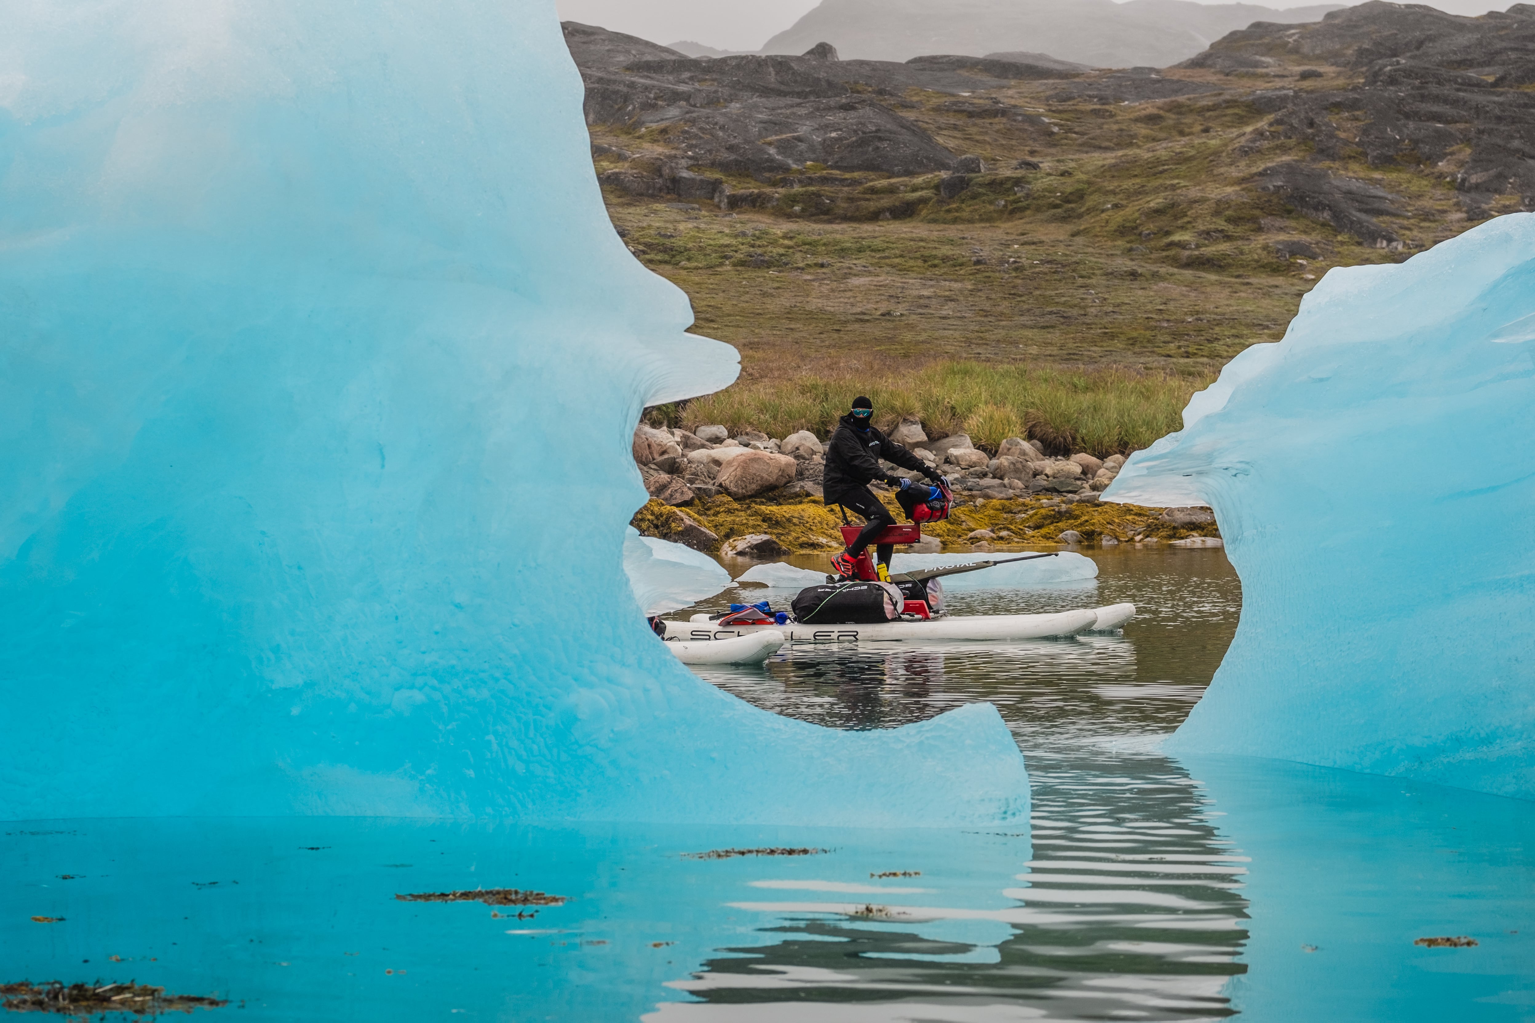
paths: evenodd
<path fill-rule="evenodd" d="M 827 437 L 858 394 L 875 403 L 875 422 L 890 429 L 904 416 L 929 437 L 970 434 L 996 449 L 1007 437 L 1039 440 L 1048 452 L 1099 457 L 1148 446 L 1182 426 L 1188 397 L 1208 387 L 1208 371 L 1028 368 L 936 362 L 909 371 L 829 368 L 815 374 L 743 380 L 718 394 L 655 410 L 688 428 L 721 423 L 732 433 L 761 429 L 784 437 L 809 429 Z"/>

